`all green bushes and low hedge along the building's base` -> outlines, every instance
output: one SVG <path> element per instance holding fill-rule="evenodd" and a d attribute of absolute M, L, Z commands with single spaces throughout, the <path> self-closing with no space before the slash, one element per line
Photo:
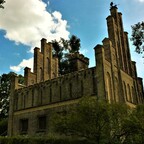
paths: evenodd
<path fill-rule="evenodd" d="M 0 137 L 1 144 L 143 144 L 144 105 L 125 104 L 83 97 L 67 110 L 54 113 L 53 136 Z M 1 123 L 0 123 L 1 125 Z"/>

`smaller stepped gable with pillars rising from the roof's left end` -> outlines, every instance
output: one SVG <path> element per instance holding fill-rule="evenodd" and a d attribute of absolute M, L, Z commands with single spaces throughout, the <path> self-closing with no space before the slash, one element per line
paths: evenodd
<path fill-rule="evenodd" d="M 26 86 L 58 77 L 58 58 L 53 56 L 52 49 L 52 44 L 44 38 L 41 48 L 34 48 L 33 72 L 28 67 L 24 69 Z"/>

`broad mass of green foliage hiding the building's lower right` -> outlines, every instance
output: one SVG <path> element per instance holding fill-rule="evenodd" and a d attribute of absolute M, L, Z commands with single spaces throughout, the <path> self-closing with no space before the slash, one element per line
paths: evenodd
<path fill-rule="evenodd" d="M 109 104 L 84 98 L 74 108 L 52 118 L 54 131 L 85 138 L 97 144 L 144 143 L 144 106 L 131 110 L 123 104 Z"/>

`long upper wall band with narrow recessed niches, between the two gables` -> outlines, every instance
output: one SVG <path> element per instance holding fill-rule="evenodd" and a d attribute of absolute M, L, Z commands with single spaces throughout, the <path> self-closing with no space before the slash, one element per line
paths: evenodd
<path fill-rule="evenodd" d="M 96 93 L 95 67 L 15 90 L 15 111 Z"/>

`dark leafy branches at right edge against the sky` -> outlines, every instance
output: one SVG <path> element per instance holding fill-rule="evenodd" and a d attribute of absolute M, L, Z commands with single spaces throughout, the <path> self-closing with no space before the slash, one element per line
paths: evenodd
<path fill-rule="evenodd" d="M 136 47 L 137 53 L 143 53 L 144 51 L 144 22 L 139 22 L 132 26 L 132 35 L 131 41 Z"/>

